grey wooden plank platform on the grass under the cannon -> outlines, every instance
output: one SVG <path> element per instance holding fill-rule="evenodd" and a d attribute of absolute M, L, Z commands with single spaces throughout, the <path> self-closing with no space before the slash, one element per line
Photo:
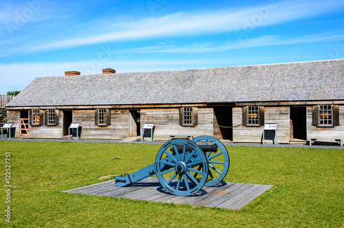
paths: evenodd
<path fill-rule="evenodd" d="M 226 182 L 203 187 L 193 196 L 175 196 L 162 188 L 157 178 L 150 177 L 126 187 L 116 187 L 115 180 L 107 180 L 63 192 L 237 210 L 248 205 L 271 187 L 273 185 Z"/>

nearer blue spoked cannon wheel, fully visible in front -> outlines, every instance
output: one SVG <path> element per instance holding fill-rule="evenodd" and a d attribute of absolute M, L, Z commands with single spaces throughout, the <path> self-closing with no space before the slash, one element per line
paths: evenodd
<path fill-rule="evenodd" d="M 178 152 L 176 145 L 184 145 L 182 151 Z M 192 150 L 186 150 L 186 147 Z M 171 148 L 178 153 L 170 152 Z M 208 160 L 203 150 L 192 141 L 174 139 L 159 149 L 155 157 L 155 172 L 162 187 L 171 194 L 191 196 L 206 183 Z"/>

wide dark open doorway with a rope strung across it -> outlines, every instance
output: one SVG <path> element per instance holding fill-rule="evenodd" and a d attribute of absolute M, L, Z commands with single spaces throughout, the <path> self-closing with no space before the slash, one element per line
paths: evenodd
<path fill-rule="evenodd" d="M 214 121 L 217 122 L 214 127 L 219 129 L 218 137 L 221 138 L 222 136 L 222 139 L 233 141 L 233 107 L 214 107 L 214 114 L 216 118 Z"/>

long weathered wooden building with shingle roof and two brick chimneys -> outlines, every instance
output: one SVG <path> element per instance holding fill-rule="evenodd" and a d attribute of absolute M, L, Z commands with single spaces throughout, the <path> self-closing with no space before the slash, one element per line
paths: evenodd
<path fill-rule="evenodd" d="M 36 78 L 6 106 L 17 138 L 209 135 L 261 143 L 265 123 L 277 142 L 344 138 L 344 59 L 226 68 Z M 224 127 L 220 127 L 224 126 Z M 231 127 L 234 126 L 234 127 Z"/>

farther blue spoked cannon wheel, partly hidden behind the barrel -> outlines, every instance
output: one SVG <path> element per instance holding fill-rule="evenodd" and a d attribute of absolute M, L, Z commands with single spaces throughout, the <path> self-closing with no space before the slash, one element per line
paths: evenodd
<path fill-rule="evenodd" d="M 209 165 L 209 177 L 204 186 L 210 187 L 216 185 L 224 179 L 229 169 L 230 159 L 226 147 L 217 138 L 211 136 L 199 136 L 193 138 L 193 142 L 197 145 L 211 145 L 213 143 L 217 145 L 217 152 L 206 152 Z"/>

